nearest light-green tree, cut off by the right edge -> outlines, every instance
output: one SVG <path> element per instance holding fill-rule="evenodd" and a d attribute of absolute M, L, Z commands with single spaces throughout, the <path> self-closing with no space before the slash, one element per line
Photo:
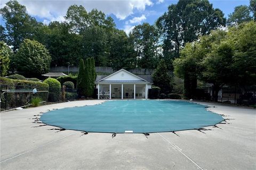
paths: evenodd
<path fill-rule="evenodd" d="M 232 77 L 241 87 L 256 84 L 256 23 L 243 23 L 229 29 L 228 43 L 234 44 Z"/>

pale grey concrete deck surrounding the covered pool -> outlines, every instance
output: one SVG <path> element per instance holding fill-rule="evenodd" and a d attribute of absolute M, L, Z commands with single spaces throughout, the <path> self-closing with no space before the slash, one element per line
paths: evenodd
<path fill-rule="evenodd" d="M 103 100 L 51 104 L 1 113 L 0 169 L 256 169 L 256 110 L 197 102 L 229 124 L 211 131 L 143 134 L 50 131 L 34 115 Z M 212 106 L 215 106 L 214 108 Z M 82 136 L 81 136 L 82 135 Z"/>

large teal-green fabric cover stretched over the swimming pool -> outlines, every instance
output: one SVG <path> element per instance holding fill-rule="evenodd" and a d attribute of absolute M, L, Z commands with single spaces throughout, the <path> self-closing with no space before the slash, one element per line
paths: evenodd
<path fill-rule="evenodd" d="M 185 101 L 107 101 L 94 106 L 46 112 L 47 125 L 86 132 L 153 133 L 198 129 L 222 122 L 222 116 L 205 106 Z"/>

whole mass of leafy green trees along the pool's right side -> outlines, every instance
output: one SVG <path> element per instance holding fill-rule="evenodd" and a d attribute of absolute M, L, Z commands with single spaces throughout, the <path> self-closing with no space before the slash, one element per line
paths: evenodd
<path fill-rule="evenodd" d="M 187 43 L 181 57 L 174 61 L 175 74 L 184 79 L 185 95 L 193 96 L 197 79 L 213 84 L 215 100 L 225 84 L 255 84 L 255 33 L 256 23 L 251 21 L 228 31 L 212 31 L 199 41 Z M 195 84 L 191 86 L 191 82 Z"/>

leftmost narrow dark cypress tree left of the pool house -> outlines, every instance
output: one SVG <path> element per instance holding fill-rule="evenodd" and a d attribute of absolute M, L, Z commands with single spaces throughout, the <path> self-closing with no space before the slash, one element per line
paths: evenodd
<path fill-rule="evenodd" d="M 77 75 L 77 88 L 79 88 L 79 95 L 85 95 L 85 72 L 84 72 L 84 60 L 79 62 L 78 75 Z"/>

